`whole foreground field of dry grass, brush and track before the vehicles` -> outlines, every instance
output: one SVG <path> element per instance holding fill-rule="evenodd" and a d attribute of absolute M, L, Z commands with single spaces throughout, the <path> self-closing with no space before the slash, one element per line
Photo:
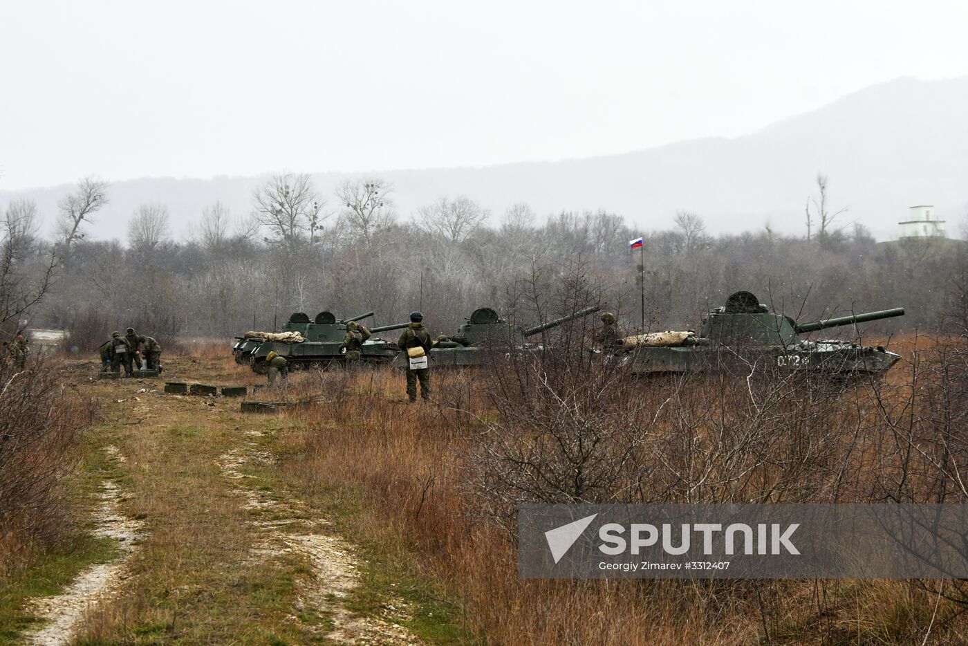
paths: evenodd
<path fill-rule="evenodd" d="M 838 383 L 749 366 L 641 380 L 580 357 L 512 357 L 433 372 L 433 401 L 417 405 L 385 367 L 294 373 L 246 397 L 293 404 L 275 415 L 164 393 L 164 381 L 264 380 L 224 344 L 185 345 L 157 382 L 98 381 L 95 361 L 51 366 L 72 410 L 97 409 L 72 422 L 76 534 L 96 538 L 106 480 L 122 492 L 118 514 L 139 523 L 135 550 L 107 541 L 72 570 L 124 564 L 76 620 L 80 643 L 940 644 L 968 633 L 957 581 L 522 581 L 515 544 L 528 502 L 964 503 L 958 340 L 894 339 L 904 358 L 887 378 Z M 29 631 L 48 621 L 36 598 L 71 576 L 38 593 L 23 583 L 49 564 L 24 558 L 33 565 L 7 572 L 0 612 Z"/>

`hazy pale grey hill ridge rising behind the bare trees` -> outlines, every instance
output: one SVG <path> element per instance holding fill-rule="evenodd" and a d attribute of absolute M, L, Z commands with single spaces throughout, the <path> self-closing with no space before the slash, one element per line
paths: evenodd
<path fill-rule="evenodd" d="M 714 106 L 710 107 L 715 109 Z M 702 138 L 621 155 L 486 168 L 381 171 L 396 186 L 404 219 L 440 196 L 466 194 L 498 216 L 527 201 L 541 215 L 605 208 L 643 231 L 671 227 L 678 209 L 696 211 L 713 232 L 761 229 L 801 233 L 803 206 L 818 170 L 830 178 L 840 222 L 860 222 L 878 239 L 896 237 L 911 204 L 931 203 L 957 234 L 968 213 L 968 77 L 899 78 L 846 96 L 826 108 L 740 138 Z M 331 195 L 348 175 L 316 175 Z M 264 176 L 212 179 L 141 178 L 114 182 L 94 237 L 124 238 L 128 216 L 142 201 L 165 202 L 176 233 L 215 200 L 234 214 Z M 68 186 L 0 192 L 37 200 L 52 218 Z M 332 200 L 331 200 L 332 203 Z"/>

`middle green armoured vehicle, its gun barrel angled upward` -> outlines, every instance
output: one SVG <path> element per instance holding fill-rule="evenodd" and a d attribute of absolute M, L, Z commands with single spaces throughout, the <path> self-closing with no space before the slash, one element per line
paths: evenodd
<path fill-rule="evenodd" d="M 470 314 L 467 322 L 461 325 L 457 334 L 436 342 L 430 351 L 432 367 L 473 366 L 484 363 L 488 350 L 508 352 L 509 349 L 534 351 L 538 346 L 529 344 L 529 337 L 599 311 L 601 307 L 592 305 L 577 312 L 542 323 L 528 329 L 507 323 L 490 307 L 481 307 Z M 406 367 L 405 354 L 394 359 L 395 367 Z"/>

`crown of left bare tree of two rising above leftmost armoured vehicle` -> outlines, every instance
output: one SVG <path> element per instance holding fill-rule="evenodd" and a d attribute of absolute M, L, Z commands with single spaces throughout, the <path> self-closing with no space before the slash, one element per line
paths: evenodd
<path fill-rule="evenodd" d="M 308 237 L 310 244 L 318 239 L 326 215 L 307 173 L 273 175 L 252 195 L 253 214 L 258 222 L 290 250 Z"/>

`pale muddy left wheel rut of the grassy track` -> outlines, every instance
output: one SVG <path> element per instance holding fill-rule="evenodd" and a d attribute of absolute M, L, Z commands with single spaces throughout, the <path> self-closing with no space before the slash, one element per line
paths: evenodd
<path fill-rule="evenodd" d="M 116 446 L 107 446 L 106 452 L 110 460 L 124 461 Z M 59 646 L 71 643 L 87 613 L 115 596 L 119 585 L 127 578 L 128 562 L 136 553 L 137 540 L 141 537 L 141 523 L 122 514 L 121 490 L 112 480 L 102 482 L 99 498 L 92 516 L 95 529 L 91 534 L 113 540 L 118 557 L 110 563 L 84 569 L 60 595 L 33 600 L 31 612 L 41 621 L 38 629 L 23 635 L 28 644 Z"/>

